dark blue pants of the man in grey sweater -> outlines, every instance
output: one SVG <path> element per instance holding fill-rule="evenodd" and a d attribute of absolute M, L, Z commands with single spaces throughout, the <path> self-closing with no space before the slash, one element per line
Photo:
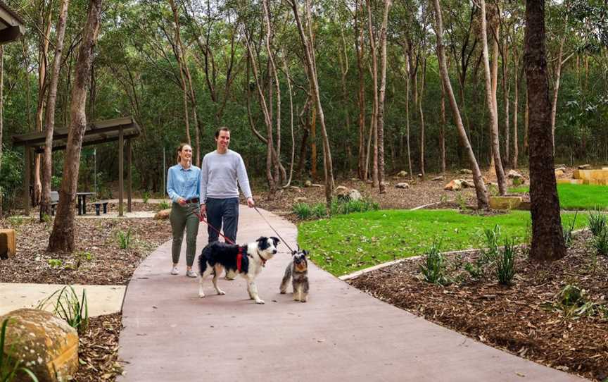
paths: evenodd
<path fill-rule="evenodd" d="M 209 222 L 207 226 L 209 242 L 219 240 L 220 235 L 215 229 L 222 230 L 223 226 L 224 236 L 236 244 L 236 228 L 239 226 L 239 198 L 214 199 L 208 197 L 206 207 L 207 221 Z"/>

